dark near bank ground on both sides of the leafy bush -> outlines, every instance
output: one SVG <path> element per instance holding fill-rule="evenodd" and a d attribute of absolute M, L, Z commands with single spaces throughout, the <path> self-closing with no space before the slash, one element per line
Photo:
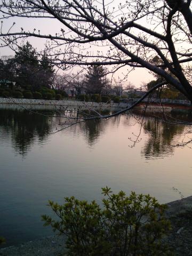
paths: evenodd
<path fill-rule="evenodd" d="M 192 255 L 192 196 L 166 204 L 166 215 L 171 220 L 173 228 L 168 241 L 175 248 L 174 255 Z M 187 251 L 184 253 L 183 250 Z M 1 256 L 59 256 L 63 252 L 65 237 L 58 235 L 0 249 Z"/>

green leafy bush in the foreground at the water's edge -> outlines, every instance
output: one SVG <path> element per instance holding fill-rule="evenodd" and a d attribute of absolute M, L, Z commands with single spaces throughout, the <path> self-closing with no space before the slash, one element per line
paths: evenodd
<path fill-rule="evenodd" d="M 102 188 L 103 209 L 95 203 L 65 197 L 65 204 L 49 201 L 60 220 L 43 215 L 44 225 L 67 236 L 67 255 L 156 256 L 172 255 L 162 242 L 170 230 L 164 218 L 165 205 L 149 195 L 123 191 L 113 194 Z"/>

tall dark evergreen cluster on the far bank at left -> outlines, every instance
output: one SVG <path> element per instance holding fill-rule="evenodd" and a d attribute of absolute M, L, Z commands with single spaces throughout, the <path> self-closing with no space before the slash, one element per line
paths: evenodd
<path fill-rule="evenodd" d="M 29 42 L 19 47 L 12 58 L 0 60 L 1 83 L 7 80 L 16 82 L 22 89 L 38 90 L 41 86 L 51 88 L 54 68 L 46 55 L 38 59 L 36 50 Z"/>

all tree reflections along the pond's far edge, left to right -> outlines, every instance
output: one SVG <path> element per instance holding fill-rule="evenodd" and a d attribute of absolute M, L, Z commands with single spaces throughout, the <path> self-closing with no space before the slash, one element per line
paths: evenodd
<path fill-rule="evenodd" d="M 74 116 L 72 110 L 72 114 L 68 113 L 69 116 Z M 57 111 L 47 113 L 47 110 L 41 110 L 41 113 L 51 115 L 52 117 L 29 114 L 26 110 L 0 109 L 1 141 L 10 136 L 14 150 L 25 156 L 35 141 L 42 143 L 47 140 L 48 134 L 55 130 L 55 127 L 58 127 L 59 130 L 62 127 L 62 122 L 65 121 L 65 118 L 61 117 L 63 116 L 62 112 L 57 114 Z M 136 118 L 139 117 L 141 116 L 136 116 Z M 182 115 L 175 115 L 174 117 L 181 118 Z M 101 135 L 105 134 L 107 127 L 110 127 L 111 130 L 113 127 L 118 127 L 119 124 L 132 126 L 137 122 L 138 120 L 134 119 L 132 115 L 119 115 L 108 120 L 95 119 L 78 123 L 69 127 L 67 133 L 73 133 L 75 137 L 78 137 L 79 134 L 84 134 L 86 142 L 90 147 L 93 147 Z M 174 137 L 183 133 L 185 126 L 169 125 L 150 117 L 146 117 L 145 122 L 143 129 L 149 135 L 149 139 L 145 142 L 141 154 L 145 155 L 146 158 L 172 154 L 173 147 L 171 145 L 173 144 Z M 135 129 L 138 128 L 136 127 Z M 63 131 L 63 133 L 65 132 L 66 130 Z"/>

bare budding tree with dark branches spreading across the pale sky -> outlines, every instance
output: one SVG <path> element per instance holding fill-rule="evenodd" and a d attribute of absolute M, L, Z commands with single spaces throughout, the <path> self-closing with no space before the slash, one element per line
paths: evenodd
<path fill-rule="evenodd" d="M 17 51 L 21 39 L 46 39 L 47 56 L 63 70 L 90 65 L 109 66 L 109 73 L 146 68 L 162 79 L 145 97 L 171 84 L 192 101 L 191 0 L 2 0 L 0 12 L 2 47 Z M 22 28 L 15 23 L 18 17 Z M 57 21 L 54 33 L 28 30 L 24 25 L 29 18 Z M 154 61 L 156 56 L 161 63 Z"/>

